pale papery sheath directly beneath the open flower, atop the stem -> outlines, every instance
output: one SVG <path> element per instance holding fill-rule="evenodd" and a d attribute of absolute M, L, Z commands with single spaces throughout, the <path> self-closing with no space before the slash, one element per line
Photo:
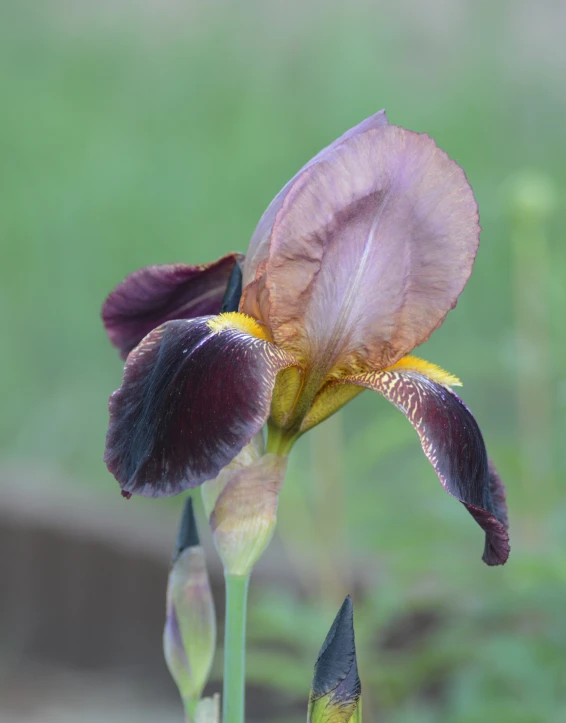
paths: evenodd
<path fill-rule="evenodd" d="M 287 457 L 263 454 L 258 436 L 216 479 L 202 485 L 204 508 L 227 575 L 249 575 L 269 544 L 286 466 Z"/>

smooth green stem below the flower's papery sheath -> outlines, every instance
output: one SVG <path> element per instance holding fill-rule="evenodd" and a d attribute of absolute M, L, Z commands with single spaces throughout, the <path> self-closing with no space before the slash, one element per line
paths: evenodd
<path fill-rule="evenodd" d="M 244 723 L 249 575 L 226 575 L 223 723 Z"/>

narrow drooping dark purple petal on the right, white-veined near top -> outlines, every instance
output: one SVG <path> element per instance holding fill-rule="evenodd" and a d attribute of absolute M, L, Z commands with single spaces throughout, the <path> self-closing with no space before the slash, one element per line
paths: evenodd
<path fill-rule="evenodd" d="M 478 424 L 461 399 L 411 370 L 370 372 L 348 381 L 379 392 L 405 414 L 444 489 L 484 530 L 484 562 L 504 564 L 509 556 L 505 488 L 488 461 Z"/>

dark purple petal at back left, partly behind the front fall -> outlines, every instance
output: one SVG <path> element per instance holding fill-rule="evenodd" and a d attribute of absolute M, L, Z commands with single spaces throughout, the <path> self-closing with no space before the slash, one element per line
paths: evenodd
<path fill-rule="evenodd" d="M 146 266 L 127 276 L 102 307 L 102 321 L 122 358 L 165 321 L 218 314 L 230 275 L 242 254 L 201 266 Z"/>

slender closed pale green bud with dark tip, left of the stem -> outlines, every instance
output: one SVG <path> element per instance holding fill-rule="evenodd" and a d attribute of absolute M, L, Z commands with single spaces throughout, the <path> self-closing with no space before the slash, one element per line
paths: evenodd
<path fill-rule="evenodd" d="M 191 720 L 210 674 L 215 647 L 214 602 L 189 497 L 169 573 L 163 650 Z"/>

